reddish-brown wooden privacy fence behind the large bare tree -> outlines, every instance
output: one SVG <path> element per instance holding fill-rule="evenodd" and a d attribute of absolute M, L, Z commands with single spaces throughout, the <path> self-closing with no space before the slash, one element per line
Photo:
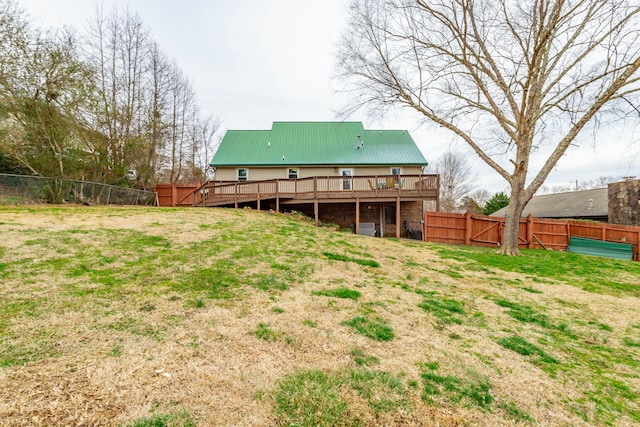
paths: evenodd
<path fill-rule="evenodd" d="M 504 218 L 425 212 L 422 236 L 426 242 L 497 247 L 502 244 Z M 549 220 L 528 216 L 520 219 L 518 241 L 521 248 L 567 250 L 572 236 L 633 246 L 638 261 L 640 227 L 574 220 Z"/>

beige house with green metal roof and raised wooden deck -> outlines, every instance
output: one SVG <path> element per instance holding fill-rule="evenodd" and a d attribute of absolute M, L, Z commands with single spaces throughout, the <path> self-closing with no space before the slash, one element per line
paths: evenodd
<path fill-rule="evenodd" d="M 406 130 L 274 122 L 226 132 L 211 160 L 215 181 L 194 204 L 296 210 L 359 234 L 403 237 L 421 229 L 423 202 L 438 200 L 426 165 Z"/>

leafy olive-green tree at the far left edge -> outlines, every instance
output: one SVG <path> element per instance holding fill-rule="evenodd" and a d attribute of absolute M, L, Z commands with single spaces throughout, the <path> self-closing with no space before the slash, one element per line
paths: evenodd
<path fill-rule="evenodd" d="M 24 30 L 24 40 L 14 37 L 5 46 L 13 72 L 3 73 L 0 104 L 12 131 L 0 149 L 32 174 L 77 177 L 84 163 L 77 134 L 91 70 L 79 60 L 71 32 Z"/>

